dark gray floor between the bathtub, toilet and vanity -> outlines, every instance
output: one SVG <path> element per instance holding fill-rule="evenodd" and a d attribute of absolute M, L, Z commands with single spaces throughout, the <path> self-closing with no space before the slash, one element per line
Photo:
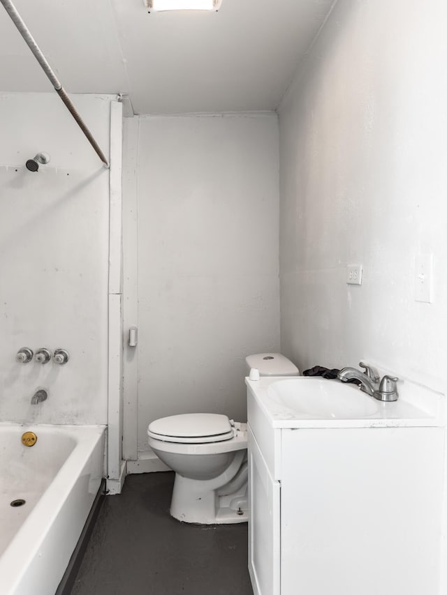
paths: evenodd
<path fill-rule="evenodd" d="M 173 473 L 126 478 L 99 513 L 71 595 L 252 595 L 247 523 L 169 515 Z"/>

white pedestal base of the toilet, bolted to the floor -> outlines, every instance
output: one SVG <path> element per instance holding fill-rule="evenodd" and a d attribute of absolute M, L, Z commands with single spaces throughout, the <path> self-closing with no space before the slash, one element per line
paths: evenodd
<path fill-rule="evenodd" d="M 205 483 L 176 473 L 170 515 L 196 525 L 247 522 L 247 481 L 227 495 L 219 495 L 219 490 L 210 490 Z"/>

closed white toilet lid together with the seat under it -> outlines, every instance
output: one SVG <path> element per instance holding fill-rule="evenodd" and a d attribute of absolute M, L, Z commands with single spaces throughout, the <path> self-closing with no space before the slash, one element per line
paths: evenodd
<path fill-rule="evenodd" d="M 186 413 L 156 419 L 149 424 L 147 434 L 165 442 L 221 442 L 234 437 L 235 430 L 226 415 Z"/>

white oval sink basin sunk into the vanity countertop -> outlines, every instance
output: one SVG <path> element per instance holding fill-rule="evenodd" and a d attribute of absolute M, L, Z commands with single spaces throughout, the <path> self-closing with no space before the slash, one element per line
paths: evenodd
<path fill-rule="evenodd" d="M 279 380 L 270 384 L 267 392 L 281 409 L 313 419 L 359 419 L 374 415 L 379 409 L 379 402 L 358 386 L 337 380 Z"/>

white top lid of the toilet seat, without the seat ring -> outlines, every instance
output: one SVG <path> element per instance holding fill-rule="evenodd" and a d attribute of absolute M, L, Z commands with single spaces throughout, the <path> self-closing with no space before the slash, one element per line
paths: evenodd
<path fill-rule="evenodd" d="M 161 436 L 193 438 L 228 435 L 233 426 L 226 415 L 217 413 L 185 413 L 156 419 L 148 432 Z"/>

